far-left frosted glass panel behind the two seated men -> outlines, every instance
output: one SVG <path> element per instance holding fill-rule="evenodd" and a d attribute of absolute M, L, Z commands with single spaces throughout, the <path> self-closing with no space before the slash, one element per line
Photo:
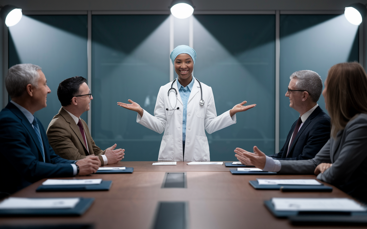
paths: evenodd
<path fill-rule="evenodd" d="M 61 108 L 59 83 L 76 75 L 87 78 L 87 16 L 23 15 L 9 27 L 9 67 L 19 63 L 39 65 L 46 75 L 51 89 L 47 107 L 34 115 L 47 129 Z M 87 113 L 81 118 L 87 121 Z"/>

